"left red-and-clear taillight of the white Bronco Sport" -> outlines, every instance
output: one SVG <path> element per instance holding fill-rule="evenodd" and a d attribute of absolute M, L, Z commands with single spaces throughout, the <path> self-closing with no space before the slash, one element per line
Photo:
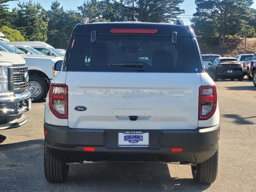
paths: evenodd
<path fill-rule="evenodd" d="M 66 84 L 51 84 L 49 106 L 57 118 L 68 118 L 68 86 Z"/>

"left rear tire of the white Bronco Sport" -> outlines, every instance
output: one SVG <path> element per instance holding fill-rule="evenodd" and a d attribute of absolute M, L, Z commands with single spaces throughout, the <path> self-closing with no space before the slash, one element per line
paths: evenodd
<path fill-rule="evenodd" d="M 68 178 L 69 165 L 52 156 L 44 142 L 44 174 L 48 182 L 62 183 Z"/>

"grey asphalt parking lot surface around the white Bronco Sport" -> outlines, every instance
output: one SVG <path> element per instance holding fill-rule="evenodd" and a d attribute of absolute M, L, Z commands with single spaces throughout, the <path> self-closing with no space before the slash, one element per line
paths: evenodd
<path fill-rule="evenodd" d="M 192 180 L 190 166 L 173 164 L 72 164 L 64 184 L 44 178 L 44 103 L 34 103 L 28 122 L 1 130 L 0 191 L 170 192 L 256 190 L 256 87 L 218 81 L 221 117 L 219 169 L 212 185 Z"/>

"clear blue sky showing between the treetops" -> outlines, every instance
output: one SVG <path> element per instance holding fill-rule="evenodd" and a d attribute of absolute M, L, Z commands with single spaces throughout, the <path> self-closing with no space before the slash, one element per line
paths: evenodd
<path fill-rule="evenodd" d="M 20 2 L 28 2 L 29 0 L 20 0 Z M 61 5 L 64 7 L 65 10 L 77 10 L 77 6 L 82 5 L 84 0 L 59 0 Z M 17 6 L 17 3 L 19 1 L 11 1 L 8 2 L 9 7 L 12 9 Z M 52 4 L 52 0 L 35 0 L 33 2 L 39 2 L 46 10 L 50 9 L 50 6 Z M 184 0 L 183 4 L 181 5 L 181 8 L 185 10 L 185 13 L 180 16 L 185 24 L 189 25 L 190 21 L 189 18 L 191 18 L 192 14 L 196 12 L 196 5 L 194 3 L 194 0 Z M 256 8 L 256 0 L 254 0 L 254 4 L 252 6 L 253 8 Z"/>

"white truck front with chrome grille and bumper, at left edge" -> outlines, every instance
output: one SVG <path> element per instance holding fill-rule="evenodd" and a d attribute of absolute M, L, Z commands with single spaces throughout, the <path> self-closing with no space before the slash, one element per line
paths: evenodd
<path fill-rule="evenodd" d="M 0 51 L 0 129 L 27 122 L 24 112 L 31 109 L 28 67 L 18 54 Z"/>

